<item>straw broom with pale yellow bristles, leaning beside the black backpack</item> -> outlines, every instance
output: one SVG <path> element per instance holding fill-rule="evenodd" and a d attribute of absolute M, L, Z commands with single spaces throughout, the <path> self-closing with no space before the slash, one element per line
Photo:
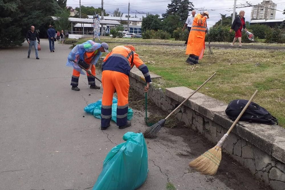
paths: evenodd
<path fill-rule="evenodd" d="M 222 149 L 225 140 L 227 139 L 227 136 L 231 132 L 231 130 L 234 128 L 234 126 L 237 124 L 255 95 L 257 94 L 258 90 L 255 91 L 255 93 L 252 95 L 252 97 L 249 99 L 248 103 L 245 105 L 235 122 L 231 125 L 231 128 L 229 128 L 228 132 L 221 138 L 221 140 L 217 143 L 217 145 L 214 148 L 211 148 L 195 160 L 189 163 L 190 167 L 195 168 L 197 171 L 200 171 L 202 174 L 207 175 L 215 175 L 215 173 L 218 170 L 218 167 L 221 162 L 222 158 Z"/>

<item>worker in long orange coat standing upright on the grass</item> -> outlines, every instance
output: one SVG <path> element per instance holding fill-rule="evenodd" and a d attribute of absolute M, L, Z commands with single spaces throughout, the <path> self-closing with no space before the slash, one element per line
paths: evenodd
<path fill-rule="evenodd" d="M 207 29 L 206 19 L 209 19 L 208 11 L 198 14 L 193 20 L 186 48 L 186 55 L 189 55 L 186 63 L 190 65 L 198 64 L 198 60 L 203 57 Z"/>

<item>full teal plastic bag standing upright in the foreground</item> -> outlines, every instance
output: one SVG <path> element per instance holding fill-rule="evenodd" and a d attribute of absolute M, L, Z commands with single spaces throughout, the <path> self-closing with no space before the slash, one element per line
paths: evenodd
<path fill-rule="evenodd" d="M 146 180 L 148 159 L 143 134 L 127 132 L 123 140 L 126 142 L 107 154 L 93 190 L 132 190 Z"/>

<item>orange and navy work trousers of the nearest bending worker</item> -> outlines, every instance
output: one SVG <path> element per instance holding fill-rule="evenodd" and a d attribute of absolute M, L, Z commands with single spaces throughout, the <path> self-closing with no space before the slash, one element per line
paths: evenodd
<path fill-rule="evenodd" d="M 109 126 L 112 117 L 113 94 L 116 89 L 118 95 L 117 126 L 127 124 L 129 76 L 117 71 L 102 72 L 103 97 L 101 107 L 101 127 Z"/>

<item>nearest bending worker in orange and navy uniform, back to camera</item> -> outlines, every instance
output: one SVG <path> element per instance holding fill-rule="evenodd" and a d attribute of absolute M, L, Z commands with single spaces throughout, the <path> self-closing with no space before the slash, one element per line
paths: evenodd
<path fill-rule="evenodd" d="M 112 117 L 113 93 L 116 90 L 118 95 L 117 103 L 117 126 L 124 129 L 131 126 L 131 121 L 127 120 L 128 95 L 129 95 L 129 74 L 131 68 L 136 66 L 144 75 L 147 82 L 144 92 L 149 89 L 151 82 L 147 66 L 135 53 L 135 47 L 117 46 L 107 54 L 102 64 L 102 85 L 103 97 L 101 107 L 101 129 L 110 126 Z"/>

